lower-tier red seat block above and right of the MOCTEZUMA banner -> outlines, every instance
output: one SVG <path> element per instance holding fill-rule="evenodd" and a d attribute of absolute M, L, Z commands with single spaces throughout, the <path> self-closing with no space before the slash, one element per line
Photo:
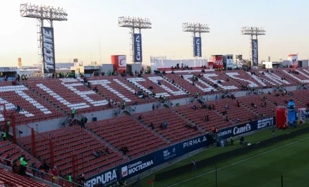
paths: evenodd
<path fill-rule="evenodd" d="M 168 146 L 157 133 L 129 116 L 90 122 L 87 127 L 118 149 L 127 146 L 132 158 Z"/>

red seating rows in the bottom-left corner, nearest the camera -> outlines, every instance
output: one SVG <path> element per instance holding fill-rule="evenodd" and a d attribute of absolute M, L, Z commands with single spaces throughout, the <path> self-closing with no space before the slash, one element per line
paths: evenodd
<path fill-rule="evenodd" d="M 0 186 L 2 184 L 16 187 L 48 187 L 47 184 L 43 184 L 34 179 L 30 179 L 29 177 L 17 175 L 9 170 L 0 168 Z"/>

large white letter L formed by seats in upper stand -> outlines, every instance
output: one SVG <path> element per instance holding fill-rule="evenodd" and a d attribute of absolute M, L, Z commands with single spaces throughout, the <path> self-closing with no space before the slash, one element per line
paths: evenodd
<path fill-rule="evenodd" d="M 58 94 L 54 93 L 54 91 L 52 91 L 51 89 L 49 89 L 48 87 L 46 87 L 43 84 L 37 84 L 37 87 L 39 87 L 40 89 L 43 89 L 43 91 L 46 91 L 47 94 L 50 94 L 50 96 L 52 96 L 53 98 L 59 100 L 59 102 L 61 102 L 62 104 L 66 105 L 70 109 L 85 109 L 85 108 L 89 108 L 90 107 L 85 102 L 71 104 L 70 102 L 68 102 L 67 100 L 65 100 L 64 98 L 59 96 Z"/>

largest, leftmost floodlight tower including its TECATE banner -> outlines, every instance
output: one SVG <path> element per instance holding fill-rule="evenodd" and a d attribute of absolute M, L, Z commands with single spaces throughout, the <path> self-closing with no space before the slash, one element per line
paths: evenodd
<path fill-rule="evenodd" d="M 38 55 L 39 63 L 42 63 L 43 74 L 54 73 L 54 30 L 53 21 L 68 21 L 66 10 L 63 8 L 54 8 L 53 6 L 46 5 L 31 5 L 31 3 L 23 3 L 20 5 L 21 17 L 34 18 L 37 19 L 37 41 L 38 41 Z M 44 20 L 50 23 L 50 28 L 44 30 L 51 34 L 51 37 L 43 36 Z M 48 45 L 52 45 L 52 49 L 48 50 L 43 46 L 43 38 L 46 39 Z M 48 41 L 49 40 L 49 41 Z M 44 53 L 45 48 L 45 53 Z"/>

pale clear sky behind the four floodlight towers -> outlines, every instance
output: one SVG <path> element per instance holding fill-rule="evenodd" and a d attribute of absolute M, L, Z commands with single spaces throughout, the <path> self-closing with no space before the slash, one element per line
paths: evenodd
<path fill-rule="evenodd" d="M 53 5 L 68 12 L 68 21 L 54 23 L 56 62 L 110 63 L 110 55 L 130 55 L 127 28 L 119 28 L 118 17 L 146 17 L 151 30 L 142 31 L 143 61 L 150 56 L 188 58 L 192 54 L 191 34 L 181 23 L 208 23 L 210 33 L 202 35 L 202 54 L 243 54 L 249 56 L 249 37 L 241 27 L 266 28 L 259 37 L 259 60 L 286 59 L 299 53 L 308 59 L 308 7 L 306 0 L 3 0 L 0 11 L 0 66 L 38 62 L 37 21 L 20 17 L 20 3 Z"/>

